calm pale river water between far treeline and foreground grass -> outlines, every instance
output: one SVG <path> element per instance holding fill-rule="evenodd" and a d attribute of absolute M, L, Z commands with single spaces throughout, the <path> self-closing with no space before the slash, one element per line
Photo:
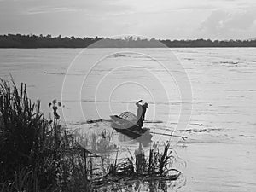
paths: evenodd
<path fill-rule="evenodd" d="M 189 137 L 173 141 L 186 164 L 178 167 L 186 177 L 178 191 L 254 191 L 255 55 L 256 49 L 243 48 L 0 49 L 0 77 L 9 79 L 11 73 L 15 82 L 26 82 L 30 96 L 43 102 L 46 116 L 48 102 L 62 98 L 62 119 L 85 131 L 109 128 L 107 123 L 89 127 L 85 120 L 136 113 L 134 102 L 143 99 L 149 103 L 145 126 Z M 183 72 L 189 78 L 191 101 L 180 95 L 176 77 Z M 186 103 L 192 104 L 189 125 L 177 127 Z M 189 108 L 183 111 L 189 113 Z M 167 139 L 154 135 L 155 142 Z M 137 148 L 134 142 L 119 144 Z"/>

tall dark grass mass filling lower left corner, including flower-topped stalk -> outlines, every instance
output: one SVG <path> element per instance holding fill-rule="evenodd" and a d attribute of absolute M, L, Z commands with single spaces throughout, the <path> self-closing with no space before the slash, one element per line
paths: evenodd
<path fill-rule="evenodd" d="M 0 79 L 0 191 L 88 189 L 87 152 L 61 129 L 57 106 L 55 100 L 49 105 L 54 119 L 48 121 L 40 101 L 28 98 L 26 84 L 19 89 Z"/>

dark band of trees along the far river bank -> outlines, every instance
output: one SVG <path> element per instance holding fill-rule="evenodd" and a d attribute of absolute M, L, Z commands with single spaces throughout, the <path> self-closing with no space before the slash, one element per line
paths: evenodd
<path fill-rule="evenodd" d="M 75 38 L 52 37 L 51 35 L 0 35 L 0 48 L 182 48 L 182 47 L 256 47 L 253 40 L 169 40 L 125 37 L 113 38 Z"/>

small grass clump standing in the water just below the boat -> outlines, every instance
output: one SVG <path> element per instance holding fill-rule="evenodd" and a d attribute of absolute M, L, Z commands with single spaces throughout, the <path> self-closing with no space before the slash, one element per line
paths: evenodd
<path fill-rule="evenodd" d="M 158 146 L 154 146 L 149 150 L 148 158 L 142 150 L 140 144 L 135 152 L 135 156 L 131 155 L 121 162 L 114 160 L 109 168 L 109 175 L 111 176 L 131 176 L 131 177 L 166 177 L 169 172 L 175 171 L 177 178 L 181 172 L 172 168 L 175 157 L 172 155 L 172 148 L 170 143 L 164 143 L 164 149 L 160 152 Z"/>

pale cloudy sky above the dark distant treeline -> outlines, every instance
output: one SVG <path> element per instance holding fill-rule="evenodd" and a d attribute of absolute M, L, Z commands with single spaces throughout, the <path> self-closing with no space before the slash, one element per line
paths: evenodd
<path fill-rule="evenodd" d="M 0 34 L 256 38 L 255 0 L 0 0 Z"/>

